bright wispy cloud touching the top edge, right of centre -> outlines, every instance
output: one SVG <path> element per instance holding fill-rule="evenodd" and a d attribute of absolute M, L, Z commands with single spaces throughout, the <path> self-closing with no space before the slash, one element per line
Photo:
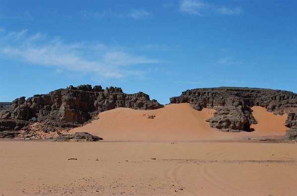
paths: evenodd
<path fill-rule="evenodd" d="M 180 0 L 179 9 L 181 12 L 190 15 L 202 16 L 206 13 L 216 13 L 220 15 L 239 15 L 243 12 L 240 7 L 228 7 L 209 3 L 204 0 Z"/>

